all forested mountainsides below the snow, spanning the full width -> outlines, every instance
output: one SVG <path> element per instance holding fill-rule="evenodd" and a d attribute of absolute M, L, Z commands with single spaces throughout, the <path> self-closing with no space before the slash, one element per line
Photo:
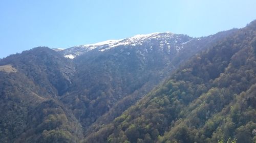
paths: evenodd
<path fill-rule="evenodd" d="M 256 21 L 177 37 L 1 59 L 0 142 L 256 142 Z"/>

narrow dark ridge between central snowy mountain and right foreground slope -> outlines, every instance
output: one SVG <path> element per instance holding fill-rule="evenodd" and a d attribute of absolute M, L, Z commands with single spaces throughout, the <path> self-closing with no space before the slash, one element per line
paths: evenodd
<path fill-rule="evenodd" d="M 169 76 L 172 71 L 179 66 L 180 63 L 186 61 L 190 56 L 194 55 L 198 51 L 201 51 L 202 49 L 209 48 L 212 45 L 214 45 L 216 42 L 220 41 L 221 39 L 227 37 L 228 35 L 236 32 L 237 30 L 230 30 L 226 32 L 221 32 L 213 36 L 203 37 L 203 38 L 194 38 L 191 39 L 189 42 L 184 44 L 183 48 L 179 50 L 176 54 L 167 55 L 169 57 L 169 63 L 166 65 L 163 65 L 163 67 L 155 70 L 152 72 L 153 67 L 159 64 L 151 64 L 149 65 L 148 69 L 151 70 L 150 73 L 152 73 L 150 76 L 148 76 L 148 79 L 146 83 L 143 84 L 143 86 L 136 90 L 134 93 L 125 96 L 121 100 L 117 101 L 116 104 L 110 108 L 110 110 L 105 113 L 103 116 L 99 117 L 98 120 L 88 129 L 88 133 L 95 132 L 99 125 L 109 123 L 113 121 L 116 117 L 121 115 L 121 113 L 133 105 L 136 101 L 138 101 L 141 96 L 148 93 L 150 90 L 152 90 L 155 85 L 159 83 L 159 81 L 165 79 Z M 136 48 L 134 48 L 136 49 Z M 159 57 L 162 57 L 162 55 L 154 56 L 154 54 L 157 53 L 157 51 L 153 51 L 153 55 L 146 56 L 148 58 L 154 58 L 159 59 Z M 154 60 L 152 59 L 152 60 Z M 124 64 L 125 65 L 125 64 Z M 146 74 L 149 74 L 148 70 L 145 70 Z M 126 74 L 123 74 L 126 75 Z M 142 74 L 143 75 L 143 74 Z M 122 76 L 122 75 L 121 75 Z M 141 79 L 141 77 L 139 77 Z"/>

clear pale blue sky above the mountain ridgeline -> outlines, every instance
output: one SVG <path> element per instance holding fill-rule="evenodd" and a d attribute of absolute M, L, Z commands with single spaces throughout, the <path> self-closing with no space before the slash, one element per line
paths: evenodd
<path fill-rule="evenodd" d="M 0 58 L 136 34 L 207 36 L 256 19 L 255 0 L 1 0 Z"/>

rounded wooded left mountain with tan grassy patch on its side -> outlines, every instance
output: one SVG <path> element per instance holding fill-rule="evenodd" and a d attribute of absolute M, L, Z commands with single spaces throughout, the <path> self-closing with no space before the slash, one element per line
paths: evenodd
<path fill-rule="evenodd" d="M 58 101 L 73 72 L 66 58 L 38 47 L 0 64 L 15 69 L 0 71 L 0 142 L 77 142 L 82 138 L 81 125 Z"/>

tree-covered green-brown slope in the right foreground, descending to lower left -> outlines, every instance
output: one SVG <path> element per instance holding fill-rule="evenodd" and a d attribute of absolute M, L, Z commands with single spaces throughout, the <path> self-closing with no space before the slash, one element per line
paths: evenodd
<path fill-rule="evenodd" d="M 195 55 L 84 142 L 255 141 L 256 22 Z"/>

